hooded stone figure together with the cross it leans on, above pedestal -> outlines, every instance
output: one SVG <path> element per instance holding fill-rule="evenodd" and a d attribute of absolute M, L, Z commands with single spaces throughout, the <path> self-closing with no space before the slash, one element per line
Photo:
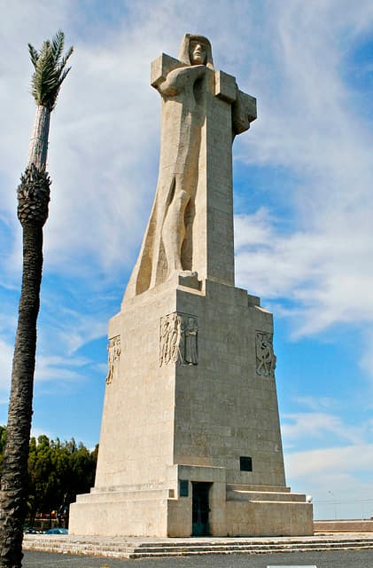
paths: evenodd
<path fill-rule="evenodd" d="M 256 99 L 214 71 L 210 42 L 183 38 L 179 59 L 152 62 L 162 98 L 159 178 L 152 214 L 127 294 L 175 271 L 234 285 L 232 143 L 256 118 Z"/>

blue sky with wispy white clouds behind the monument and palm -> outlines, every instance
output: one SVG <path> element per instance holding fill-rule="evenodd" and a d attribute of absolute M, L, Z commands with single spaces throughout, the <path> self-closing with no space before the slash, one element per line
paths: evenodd
<path fill-rule="evenodd" d="M 152 205 L 150 62 L 185 32 L 258 99 L 234 149 L 237 285 L 275 314 L 287 483 L 315 517 L 373 515 L 373 4 L 0 1 L 0 423 L 17 323 L 16 187 L 35 105 L 27 42 L 58 28 L 73 69 L 51 117 L 33 431 L 99 438 L 107 320 Z"/>

